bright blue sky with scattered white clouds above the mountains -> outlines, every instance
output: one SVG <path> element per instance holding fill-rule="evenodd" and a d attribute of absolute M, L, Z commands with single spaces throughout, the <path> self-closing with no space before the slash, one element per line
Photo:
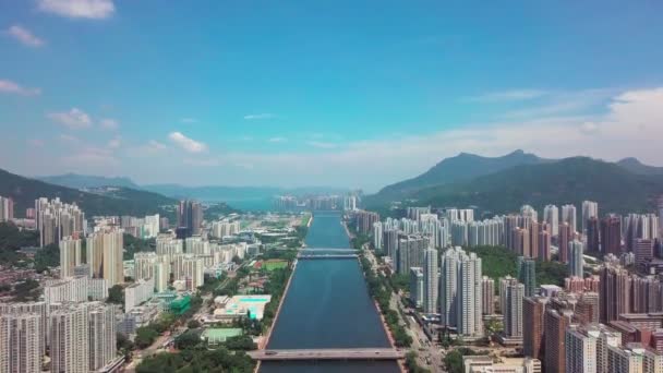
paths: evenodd
<path fill-rule="evenodd" d="M 661 164 L 662 12 L 0 0 L 0 168 L 373 191 L 459 152 Z"/>

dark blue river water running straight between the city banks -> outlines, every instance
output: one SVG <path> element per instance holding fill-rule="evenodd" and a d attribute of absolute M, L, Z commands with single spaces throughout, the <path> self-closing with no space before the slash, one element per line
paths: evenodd
<path fill-rule="evenodd" d="M 340 214 L 317 212 L 306 246 L 349 249 Z M 357 260 L 302 260 L 267 349 L 389 347 Z M 391 361 L 264 362 L 261 372 L 399 372 Z"/>

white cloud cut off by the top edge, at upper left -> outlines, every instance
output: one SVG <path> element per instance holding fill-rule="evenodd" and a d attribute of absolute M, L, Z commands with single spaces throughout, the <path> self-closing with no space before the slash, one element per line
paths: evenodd
<path fill-rule="evenodd" d="M 71 19 L 101 20 L 116 11 L 112 0 L 38 0 L 38 9 Z"/>

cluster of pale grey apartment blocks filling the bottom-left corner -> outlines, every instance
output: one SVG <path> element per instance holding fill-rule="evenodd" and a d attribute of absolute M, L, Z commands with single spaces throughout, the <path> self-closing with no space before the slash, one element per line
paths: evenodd
<path fill-rule="evenodd" d="M 0 371 L 40 372 L 47 349 L 51 372 L 112 365 L 118 360 L 116 312 L 87 297 L 0 303 Z"/>

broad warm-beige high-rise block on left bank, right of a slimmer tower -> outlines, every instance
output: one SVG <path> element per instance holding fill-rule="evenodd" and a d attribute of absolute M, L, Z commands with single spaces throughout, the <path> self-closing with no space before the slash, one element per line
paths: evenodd
<path fill-rule="evenodd" d="M 124 282 L 122 229 L 98 231 L 87 238 L 86 261 L 93 277 L 104 278 L 108 287 Z"/>

